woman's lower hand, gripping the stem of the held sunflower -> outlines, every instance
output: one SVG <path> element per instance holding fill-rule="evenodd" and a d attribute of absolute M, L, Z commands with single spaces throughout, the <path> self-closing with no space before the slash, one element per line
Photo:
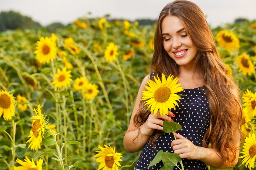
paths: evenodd
<path fill-rule="evenodd" d="M 186 139 L 175 132 L 176 140 L 173 140 L 171 147 L 174 153 L 180 155 L 181 158 L 198 159 L 198 147 L 195 146 L 189 139 Z"/>

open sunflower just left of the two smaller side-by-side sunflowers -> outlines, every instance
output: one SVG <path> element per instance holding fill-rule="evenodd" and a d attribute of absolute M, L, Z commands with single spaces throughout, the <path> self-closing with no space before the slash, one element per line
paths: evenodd
<path fill-rule="evenodd" d="M 52 82 L 55 88 L 65 88 L 70 85 L 70 82 L 72 81 L 70 74 L 71 71 L 67 71 L 67 68 L 64 67 L 62 70 L 58 68 L 58 74 L 55 74 L 55 80 Z"/>

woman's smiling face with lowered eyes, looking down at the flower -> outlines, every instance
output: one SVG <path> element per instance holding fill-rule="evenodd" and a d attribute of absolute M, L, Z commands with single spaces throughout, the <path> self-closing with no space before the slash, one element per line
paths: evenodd
<path fill-rule="evenodd" d="M 198 49 L 191 41 L 180 18 L 167 15 L 162 21 L 162 36 L 164 49 L 179 65 L 193 68 L 195 55 Z"/>

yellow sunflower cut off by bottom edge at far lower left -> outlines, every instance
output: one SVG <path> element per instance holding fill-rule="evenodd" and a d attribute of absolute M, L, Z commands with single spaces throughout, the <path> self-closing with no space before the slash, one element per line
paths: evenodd
<path fill-rule="evenodd" d="M 14 166 L 13 170 L 42 170 L 43 159 L 40 158 L 35 164 L 33 158 L 31 158 L 30 161 L 26 156 L 24 161 L 25 162 L 21 161 L 20 159 L 16 159 L 16 162 L 22 166 Z"/>

